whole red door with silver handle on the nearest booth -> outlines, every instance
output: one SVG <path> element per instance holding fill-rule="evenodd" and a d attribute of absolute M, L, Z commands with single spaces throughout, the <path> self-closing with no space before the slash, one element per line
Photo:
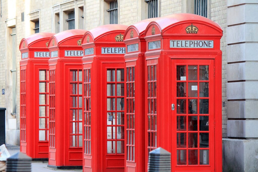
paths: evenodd
<path fill-rule="evenodd" d="M 172 169 L 214 170 L 214 60 L 172 59 Z"/>

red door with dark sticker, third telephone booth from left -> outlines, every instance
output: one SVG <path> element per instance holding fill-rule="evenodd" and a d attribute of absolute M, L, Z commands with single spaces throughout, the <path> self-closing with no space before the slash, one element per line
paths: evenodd
<path fill-rule="evenodd" d="M 125 73 L 124 63 L 103 65 L 103 172 L 124 171 L 125 153 Z"/>

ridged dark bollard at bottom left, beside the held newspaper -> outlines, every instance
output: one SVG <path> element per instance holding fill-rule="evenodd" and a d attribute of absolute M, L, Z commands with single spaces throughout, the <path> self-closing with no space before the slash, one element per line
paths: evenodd
<path fill-rule="evenodd" d="M 26 154 L 18 152 L 6 161 L 6 172 L 31 172 L 31 158 Z"/>

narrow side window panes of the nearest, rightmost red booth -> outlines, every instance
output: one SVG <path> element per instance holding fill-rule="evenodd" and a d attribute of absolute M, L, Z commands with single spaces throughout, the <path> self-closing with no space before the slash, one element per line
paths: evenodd
<path fill-rule="evenodd" d="M 147 87 L 148 87 L 148 152 L 157 148 L 157 65 L 147 66 Z"/>

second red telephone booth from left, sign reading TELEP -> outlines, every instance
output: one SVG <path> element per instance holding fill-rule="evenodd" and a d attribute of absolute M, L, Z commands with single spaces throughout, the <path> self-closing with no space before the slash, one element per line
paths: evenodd
<path fill-rule="evenodd" d="M 66 30 L 49 40 L 49 167 L 82 166 L 82 36 Z"/>

